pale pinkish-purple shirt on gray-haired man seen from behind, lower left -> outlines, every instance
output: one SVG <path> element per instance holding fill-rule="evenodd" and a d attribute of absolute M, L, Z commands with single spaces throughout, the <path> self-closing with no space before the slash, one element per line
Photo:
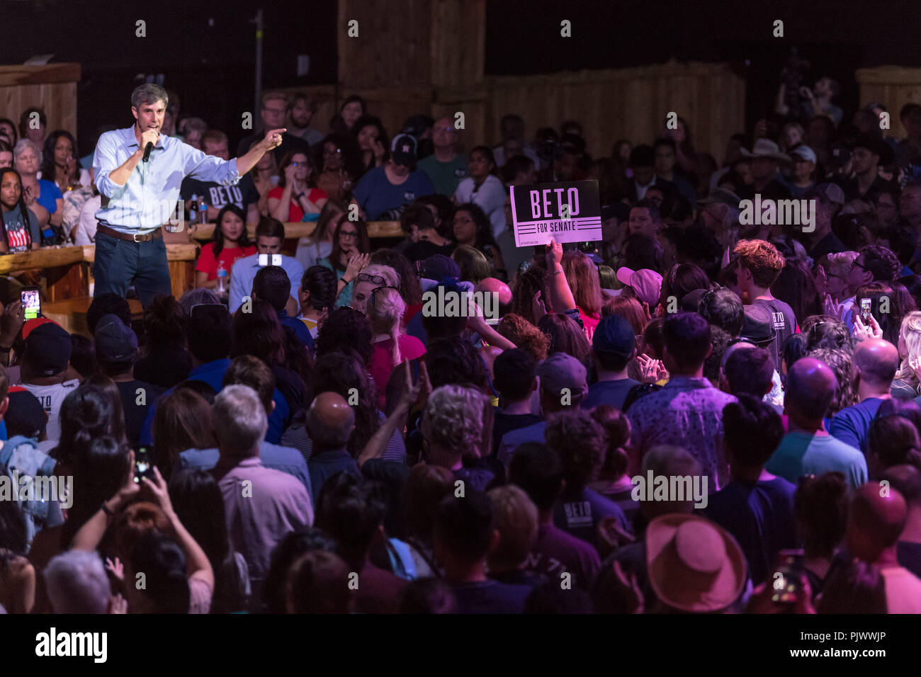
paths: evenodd
<path fill-rule="evenodd" d="M 230 547 L 246 559 L 251 581 L 262 581 L 275 545 L 290 531 L 313 524 L 310 496 L 299 480 L 266 468 L 258 458 L 239 461 L 223 476 L 221 466 L 218 461 L 214 472 L 220 477 Z"/>

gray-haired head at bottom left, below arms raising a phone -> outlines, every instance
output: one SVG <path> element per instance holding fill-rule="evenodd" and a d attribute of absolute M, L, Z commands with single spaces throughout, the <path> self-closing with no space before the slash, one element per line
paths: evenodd
<path fill-rule="evenodd" d="M 54 613 L 107 613 L 109 578 L 99 554 L 68 550 L 48 563 L 45 589 Z"/>

